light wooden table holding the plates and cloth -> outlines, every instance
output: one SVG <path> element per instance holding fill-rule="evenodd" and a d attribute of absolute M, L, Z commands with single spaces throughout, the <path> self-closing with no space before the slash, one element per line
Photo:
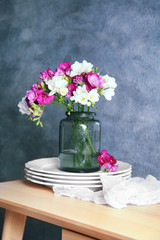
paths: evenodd
<path fill-rule="evenodd" d="M 18 180 L 0 183 L 0 207 L 2 240 L 22 239 L 27 216 L 61 226 L 63 240 L 160 240 L 160 204 L 117 210 Z"/>

